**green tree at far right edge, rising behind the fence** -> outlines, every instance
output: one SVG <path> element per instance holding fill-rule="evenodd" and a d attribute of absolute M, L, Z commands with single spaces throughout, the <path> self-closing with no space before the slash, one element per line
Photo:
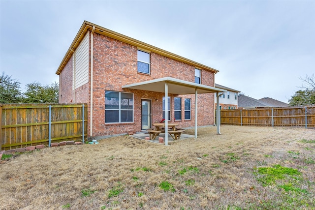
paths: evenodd
<path fill-rule="evenodd" d="M 310 106 L 315 104 L 315 77 L 306 75 L 305 79 L 301 78 L 303 81 L 302 90 L 298 90 L 289 99 L 290 106 Z"/>

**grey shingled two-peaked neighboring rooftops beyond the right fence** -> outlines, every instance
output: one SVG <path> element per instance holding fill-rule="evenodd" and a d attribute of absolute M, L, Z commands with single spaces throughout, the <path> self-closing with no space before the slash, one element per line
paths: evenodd
<path fill-rule="evenodd" d="M 254 108 L 266 108 L 266 107 L 285 107 L 288 104 L 272 99 L 272 98 L 261 98 L 259 100 L 251 98 L 246 95 L 238 96 L 238 107 L 239 109 L 254 109 Z"/>

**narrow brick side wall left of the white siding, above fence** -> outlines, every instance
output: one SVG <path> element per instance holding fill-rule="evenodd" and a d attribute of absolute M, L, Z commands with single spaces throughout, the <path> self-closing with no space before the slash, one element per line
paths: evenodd
<path fill-rule="evenodd" d="M 63 71 L 60 73 L 60 91 L 59 102 L 60 103 L 72 103 L 73 102 L 73 90 L 72 90 L 72 58 L 64 66 Z"/>

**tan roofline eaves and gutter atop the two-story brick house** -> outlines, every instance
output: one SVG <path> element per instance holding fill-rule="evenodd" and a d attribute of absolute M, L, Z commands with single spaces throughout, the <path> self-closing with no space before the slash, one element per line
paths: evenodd
<path fill-rule="evenodd" d="M 74 40 L 72 41 L 69 49 L 67 50 L 66 54 L 64 55 L 63 60 L 61 61 L 60 65 L 59 65 L 59 67 L 58 67 L 58 69 L 56 71 L 56 74 L 59 75 L 62 72 L 62 70 L 63 70 L 64 66 L 66 65 L 66 63 L 68 62 L 68 60 L 70 60 L 70 58 L 71 58 L 71 56 L 73 54 L 71 49 L 75 50 L 78 47 L 78 45 L 81 42 L 81 40 L 83 39 L 83 37 L 85 36 L 86 32 L 88 30 L 92 30 L 93 27 L 95 27 L 95 33 L 99 33 L 99 34 L 102 34 L 102 35 L 105 35 L 105 36 L 117 39 L 117 40 L 125 42 L 127 44 L 131 44 L 133 46 L 136 46 L 136 47 L 138 47 L 140 49 L 147 50 L 147 51 L 150 51 L 150 52 L 154 52 L 154 53 L 157 53 L 159 55 L 165 56 L 167 58 L 171 58 L 171 59 L 174 59 L 174 60 L 178 60 L 178 61 L 190 64 L 190 65 L 193 65 L 196 68 L 200 68 L 200 69 L 204 69 L 204 70 L 208 70 L 208 71 L 214 72 L 215 74 L 219 72 L 219 70 L 217 70 L 217 69 L 211 68 L 209 66 L 203 65 L 203 64 L 195 62 L 193 60 L 189 60 L 187 58 L 181 57 L 181 56 L 176 55 L 174 53 L 170 53 L 170 52 L 168 52 L 166 50 L 162 50 L 162 49 L 160 49 L 158 47 L 155 47 L 153 45 L 144 43 L 142 41 L 133 39 L 133 38 L 128 37 L 126 35 L 117 33 L 115 31 L 112 31 L 112 30 L 109 30 L 109 29 L 105 29 L 103 27 L 97 26 L 97 25 L 95 25 L 93 23 L 90 23 L 88 21 L 84 21 L 82 26 L 81 26 L 81 28 L 80 28 L 80 30 L 78 31 L 77 35 L 75 36 Z"/>

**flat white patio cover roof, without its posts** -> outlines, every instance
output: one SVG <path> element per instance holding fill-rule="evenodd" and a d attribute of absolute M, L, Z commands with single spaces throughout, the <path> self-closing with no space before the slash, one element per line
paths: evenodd
<path fill-rule="evenodd" d="M 177 95 L 194 94 L 195 90 L 197 90 L 197 93 L 226 92 L 226 90 L 220 88 L 214 88 L 211 86 L 192 83 L 185 80 L 175 79 L 172 77 L 163 77 L 145 82 L 124 85 L 123 88 L 164 92 L 165 83 L 168 84 L 169 94 Z"/>

